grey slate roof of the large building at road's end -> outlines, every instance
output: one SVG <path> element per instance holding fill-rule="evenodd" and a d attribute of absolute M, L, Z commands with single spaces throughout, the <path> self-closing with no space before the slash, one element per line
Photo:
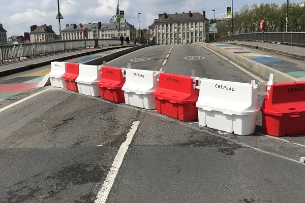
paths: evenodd
<path fill-rule="evenodd" d="M 159 19 L 155 20 L 155 22 L 179 22 L 179 21 L 190 21 L 190 20 L 208 20 L 203 17 L 201 13 L 192 13 L 192 17 L 190 17 L 189 13 L 178 13 L 178 14 L 167 14 L 167 18 L 164 18 L 164 15 Z"/>

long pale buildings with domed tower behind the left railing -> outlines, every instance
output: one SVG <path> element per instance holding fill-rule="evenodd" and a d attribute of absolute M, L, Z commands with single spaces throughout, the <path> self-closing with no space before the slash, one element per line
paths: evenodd
<path fill-rule="evenodd" d="M 88 31 L 88 39 L 118 39 L 119 32 L 126 38 L 132 40 L 135 37 L 136 29 L 128 22 L 118 22 L 118 16 L 114 15 L 110 23 L 93 22 L 88 24 L 67 24 L 62 30 L 62 40 L 80 40 L 83 37 L 83 28 Z M 120 30 L 119 30 L 120 28 Z"/>

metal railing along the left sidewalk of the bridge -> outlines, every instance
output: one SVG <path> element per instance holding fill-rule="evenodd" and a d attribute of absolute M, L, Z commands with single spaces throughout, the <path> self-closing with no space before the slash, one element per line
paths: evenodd
<path fill-rule="evenodd" d="M 131 42 L 131 44 L 133 44 L 133 42 Z M 22 56 L 37 56 L 45 53 L 62 52 L 86 47 L 112 45 L 120 45 L 120 41 L 113 39 L 88 39 L 0 45 L 0 60 L 19 58 Z"/>

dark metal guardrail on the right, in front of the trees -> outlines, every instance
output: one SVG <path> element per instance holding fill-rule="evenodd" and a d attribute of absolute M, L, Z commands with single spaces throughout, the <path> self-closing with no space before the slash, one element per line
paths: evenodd
<path fill-rule="evenodd" d="M 229 35 L 215 39 L 214 42 L 260 41 L 283 44 L 305 45 L 305 32 L 253 32 Z"/>

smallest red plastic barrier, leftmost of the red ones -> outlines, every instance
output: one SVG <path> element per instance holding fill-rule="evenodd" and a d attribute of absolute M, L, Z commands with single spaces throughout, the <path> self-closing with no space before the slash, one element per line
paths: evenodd
<path fill-rule="evenodd" d="M 66 73 L 64 75 L 64 80 L 66 83 L 66 87 L 69 90 L 78 92 L 77 83 L 75 82 L 76 78 L 78 77 L 78 63 L 67 63 L 66 65 Z"/>

